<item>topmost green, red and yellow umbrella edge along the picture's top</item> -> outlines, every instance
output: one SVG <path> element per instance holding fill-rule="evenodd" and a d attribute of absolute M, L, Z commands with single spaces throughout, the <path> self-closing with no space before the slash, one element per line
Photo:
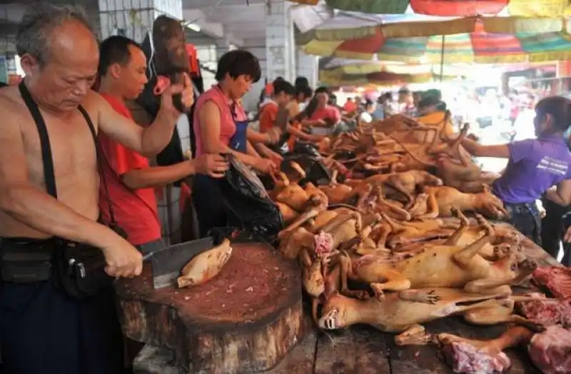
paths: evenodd
<path fill-rule="evenodd" d="M 318 0 L 290 0 L 318 4 Z M 570 14 L 567 0 L 325 0 L 335 9 L 371 14 L 404 14 L 409 6 L 417 14 L 432 16 L 494 15 L 507 11 L 511 16 L 564 16 Z"/>

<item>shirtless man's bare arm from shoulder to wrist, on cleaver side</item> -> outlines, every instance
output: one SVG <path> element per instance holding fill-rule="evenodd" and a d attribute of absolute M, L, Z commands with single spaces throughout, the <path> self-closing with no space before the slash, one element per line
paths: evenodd
<path fill-rule="evenodd" d="M 28 179 L 24 143 L 18 123 L 6 102 L 0 104 L 6 123 L 0 131 L 0 209 L 8 216 L 38 231 L 98 248 L 116 243 L 118 236 L 110 228 L 76 213 L 49 196 Z M 10 118 L 11 117 L 11 118 Z"/>

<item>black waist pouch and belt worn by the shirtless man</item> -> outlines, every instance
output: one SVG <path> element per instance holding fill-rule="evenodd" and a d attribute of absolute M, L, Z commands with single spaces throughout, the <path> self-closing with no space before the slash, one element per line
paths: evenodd
<path fill-rule="evenodd" d="M 111 285 L 105 256 L 98 248 L 63 241 L 3 238 L 0 271 L 4 282 L 51 281 L 72 298 L 87 298 Z"/>

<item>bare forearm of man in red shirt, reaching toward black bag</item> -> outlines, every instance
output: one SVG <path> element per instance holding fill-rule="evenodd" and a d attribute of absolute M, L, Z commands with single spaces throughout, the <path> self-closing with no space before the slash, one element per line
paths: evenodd
<path fill-rule="evenodd" d="M 193 160 L 183 161 L 171 166 L 154 166 L 128 171 L 122 180 L 128 188 L 153 188 L 166 186 L 194 174 L 196 168 Z"/>

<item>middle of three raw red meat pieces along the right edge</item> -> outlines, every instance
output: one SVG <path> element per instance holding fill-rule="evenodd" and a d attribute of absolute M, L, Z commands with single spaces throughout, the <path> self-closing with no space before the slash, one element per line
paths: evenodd
<path fill-rule="evenodd" d="M 571 325 L 571 298 L 538 299 L 517 303 L 517 310 L 528 320 L 550 325 Z"/>

